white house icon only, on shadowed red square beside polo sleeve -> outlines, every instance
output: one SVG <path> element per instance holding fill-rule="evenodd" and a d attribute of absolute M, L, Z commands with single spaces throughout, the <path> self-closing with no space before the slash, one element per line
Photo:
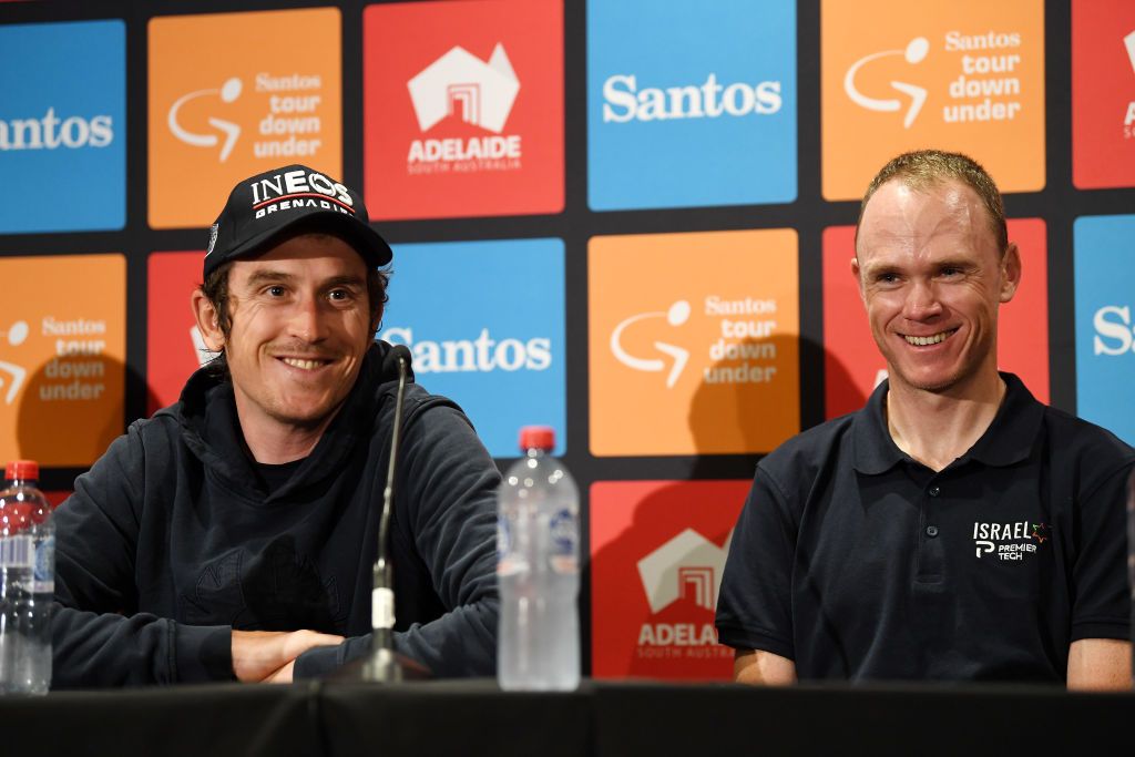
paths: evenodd
<path fill-rule="evenodd" d="M 657 614 L 679 599 L 714 609 L 725 569 L 730 531 L 718 547 L 693 529 L 686 529 L 638 562 L 639 579 L 650 612 Z"/>

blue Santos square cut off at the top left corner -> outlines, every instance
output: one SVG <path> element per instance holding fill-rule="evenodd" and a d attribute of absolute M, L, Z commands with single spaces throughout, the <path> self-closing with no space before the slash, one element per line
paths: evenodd
<path fill-rule="evenodd" d="M 125 44 L 119 20 L 0 26 L 0 234 L 125 224 Z"/>

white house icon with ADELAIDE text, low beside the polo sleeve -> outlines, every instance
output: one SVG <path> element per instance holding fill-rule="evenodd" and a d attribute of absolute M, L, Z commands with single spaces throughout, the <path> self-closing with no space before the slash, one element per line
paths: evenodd
<path fill-rule="evenodd" d="M 639 579 L 657 615 L 679 599 L 692 602 L 713 612 L 717 607 L 722 571 L 729 555 L 729 544 L 718 547 L 693 529 L 686 529 L 638 562 Z M 717 644 L 712 623 L 644 623 L 639 631 L 639 646 L 697 647 Z"/>

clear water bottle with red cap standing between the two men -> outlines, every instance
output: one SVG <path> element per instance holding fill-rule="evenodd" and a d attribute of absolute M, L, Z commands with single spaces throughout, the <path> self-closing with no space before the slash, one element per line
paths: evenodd
<path fill-rule="evenodd" d="M 579 490 L 549 454 L 552 429 L 524 427 L 520 448 L 497 493 L 497 681 L 570 690 L 579 685 Z"/>

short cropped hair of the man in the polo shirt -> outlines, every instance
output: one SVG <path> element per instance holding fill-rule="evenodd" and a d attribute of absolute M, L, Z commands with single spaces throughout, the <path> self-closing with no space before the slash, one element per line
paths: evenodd
<path fill-rule="evenodd" d="M 855 225 L 856 244 L 859 242 L 859 225 L 863 224 L 864 211 L 867 210 L 867 202 L 878 187 L 891 179 L 902 182 L 911 190 L 925 190 L 938 186 L 943 182 L 956 179 L 961 182 L 981 199 L 989 213 L 990 228 L 997 237 L 998 250 L 1001 254 L 1009 246 L 1009 232 L 1004 225 L 1004 204 L 1001 202 L 1001 192 L 998 191 L 993 177 L 989 175 L 982 165 L 968 155 L 959 152 L 944 152 L 942 150 L 915 150 L 905 152 L 898 158 L 893 158 L 875 175 L 867 186 L 867 193 L 863 195 L 863 204 L 859 205 L 859 220 Z M 856 247 L 858 254 L 858 246 Z"/>

